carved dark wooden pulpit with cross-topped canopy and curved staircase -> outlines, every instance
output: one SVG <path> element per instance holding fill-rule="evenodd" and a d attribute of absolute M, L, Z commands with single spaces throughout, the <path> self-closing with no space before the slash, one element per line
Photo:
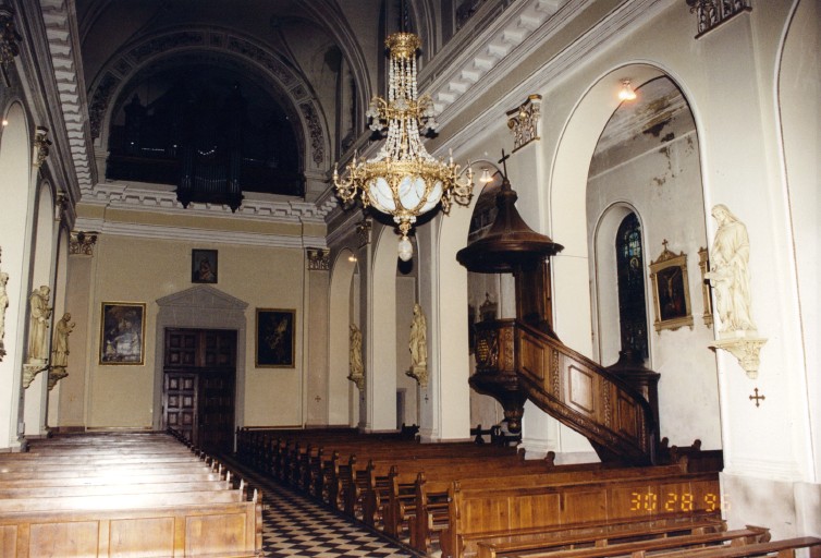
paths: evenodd
<path fill-rule="evenodd" d="M 456 255 L 469 271 L 512 272 L 516 318 L 478 323 L 477 371 L 470 385 L 504 408 L 517 433 L 527 399 L 590 440 L 603 462 L 657 462 L 658 374 L 624 360 L 602 367 L 566 347 L 553 331 L 550 257 L 563 250 L 536 233 L 515 207 L 505 175 L 488 232 Z"/>

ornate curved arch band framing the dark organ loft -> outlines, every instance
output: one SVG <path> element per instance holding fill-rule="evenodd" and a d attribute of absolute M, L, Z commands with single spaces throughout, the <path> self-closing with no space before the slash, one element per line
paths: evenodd
<path fill-rule="evenodd" d="M 266 76 L 274 97 L 283 100 L 283 109 L 301 124 L 305 172 L 323 172 L 330 167 L 328 124 L 309 83 L 266 45 L 215 27 L 151 35 L 113 54 L 98 73 L 88 94 L 90 131 L 95 141 L 106 145 L 111 119 L 115 114 L 114 101 L 123 98 L 135 77 L 181 53 L 218 54 Z"/>

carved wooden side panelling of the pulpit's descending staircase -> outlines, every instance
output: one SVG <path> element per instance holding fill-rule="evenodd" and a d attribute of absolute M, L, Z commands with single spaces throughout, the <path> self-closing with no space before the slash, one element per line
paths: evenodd
<path fill-rule="evenodd" d="M 647 400 L 557 339 L 520 322 L 519 388 L 542 411 L 587 437 L 602 461 L 654 462 L 657 425 Z"/>

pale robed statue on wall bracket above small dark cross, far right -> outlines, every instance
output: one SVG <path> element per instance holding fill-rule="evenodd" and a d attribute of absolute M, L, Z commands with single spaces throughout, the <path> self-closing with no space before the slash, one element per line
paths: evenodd
<path fill-rule="evenodd" d="M 725 205 L 713 207 L 719 223 L 710 253 L 711 268 L 706 277 L 715 289 L 721 332 L 755 331 L 750 315 L 750 283 L 747 264 L 750 243 L 747 228 Z"/>

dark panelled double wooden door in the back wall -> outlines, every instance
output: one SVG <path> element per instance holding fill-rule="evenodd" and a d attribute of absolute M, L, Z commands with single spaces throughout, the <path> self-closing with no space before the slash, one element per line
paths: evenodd
<path fill-rule="evenodd" d="M 233 449 L 236 331 L 166 329 L 163 424 L 207 453 Z"/>

